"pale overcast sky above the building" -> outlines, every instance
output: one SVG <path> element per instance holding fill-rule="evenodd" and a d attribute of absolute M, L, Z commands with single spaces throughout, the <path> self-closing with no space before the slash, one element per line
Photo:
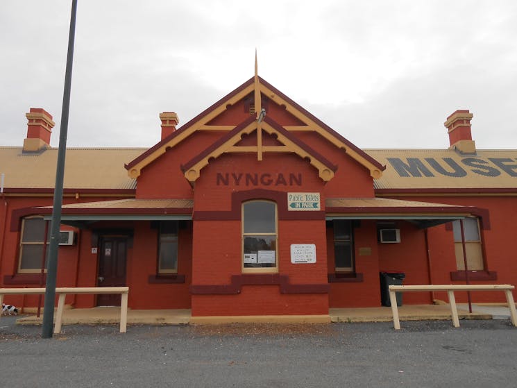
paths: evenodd
<path fill-rule="evenodd" d="M 0 1 L 1 146 L 56 121 L 71 0 Z M 78 0 L 68 146 L 152 146 L 259 75 L 359 147 L 517 149 L 517 1 Z"/>

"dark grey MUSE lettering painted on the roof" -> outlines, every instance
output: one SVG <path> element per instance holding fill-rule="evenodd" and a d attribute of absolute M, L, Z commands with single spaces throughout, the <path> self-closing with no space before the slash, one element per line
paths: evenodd
<path fill-rule="evenodd" d="M 402 177 L 433 177 L 437 175 L 461 178 L 468 171 L 480 176 L 517 176 L 517 160 L 511 158 L 387 158 L 391 166 Z"/>

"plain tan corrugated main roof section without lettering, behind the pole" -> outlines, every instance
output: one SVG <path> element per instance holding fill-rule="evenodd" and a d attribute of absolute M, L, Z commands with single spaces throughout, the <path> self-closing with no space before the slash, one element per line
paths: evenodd
<path fill-rule="evenodd" d="M 134 189 L 124 163 L 145 149 L 69 148 L 65 160 L 65 189 Z M 22 153 L 22 147 L 0 147 L 0 173 L 4 187 L 42 189 L 54 187 L 58 149 L 40 154 Z"/>

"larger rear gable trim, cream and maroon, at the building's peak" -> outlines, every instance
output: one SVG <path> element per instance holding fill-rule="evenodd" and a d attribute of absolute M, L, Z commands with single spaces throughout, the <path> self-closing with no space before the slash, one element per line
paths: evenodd
<path fill-rule="evenodd" d="M 187 137 L 196 132 L 196 130 L 234 130 L 235 126 L 210 126 L 209 123 L 215 117 L 225 112 L 228 106 L 232 106 L 244 99 L 249 94 L 253 93 L 255 96 L 255 108 L 257 109 L 257 117 L 260 114 L 262 95 L 267 97 L 270 103 L 275 103 L 278 106 L 285 107 L 285 110 L 290 115 L 296 117 L 299 121 L 305 124 L 305 126 L 286 126 L 285 130 L 308 130 L 319 133 L 325 140 L 328 140 L 334 146 L 339 149 L 343 149 L 347 155 L 359 162 L 370 171 L 370 175 L 373 178 L 380 178 L 382 171 L 385 167 L 381 165 L 377 160 L 373 159 L 370 155 L 359 149 L 357 146 L 346 140 L 343 136 L 339 135 L 336 131 L 332 130 L 329 126 L 323 123 L 323 121 L 317 119 L 310 112 L 299 106 L 297 103 L 289 99 L 285 94 L 277 90 L 275 87 L 264 81 L 255 74 L 254 78 L 250 78 L 246 83 L 237 87 L 233 92 L 227 94 L 222 99 L 214 103 L 210 108 L 204 110 L 200 115 L 194 117 L 187 124 L 181 126 L 168 137 L 165 137 L 155 146 L 151 147 L 148 151 L 139 155 L 138 158 L 129 162 L 125 167 L 128 169 L 128 174 L 131 178 L 137 178 L 144 167 L 149 165 L 153 160 L 160 157 L 167 149 L 176 146 L 176 144 L 182 142 Z M 251 116 L 253 117 L 253 116 Z M 257 117 L 253 117 L 257 119 Z"/>

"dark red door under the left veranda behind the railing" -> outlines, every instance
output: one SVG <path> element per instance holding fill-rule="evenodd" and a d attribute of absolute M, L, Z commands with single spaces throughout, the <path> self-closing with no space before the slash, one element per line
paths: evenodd
<path fill-rule="evenodd" d="M 98 287 L 126 285 L 126 237 L 101 237 Z M 119 306 L 120 294 L 97 295 L 98 306 Z"/>

